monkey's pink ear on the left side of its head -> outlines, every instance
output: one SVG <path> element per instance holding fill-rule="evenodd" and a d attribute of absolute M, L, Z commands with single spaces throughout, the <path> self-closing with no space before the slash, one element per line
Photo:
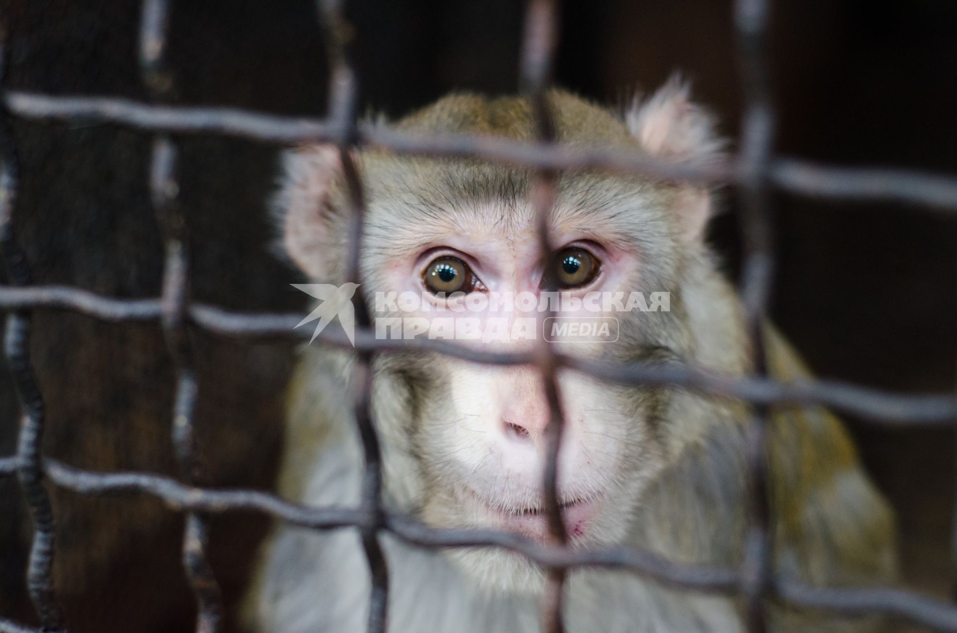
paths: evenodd
<path fill-rule="evenodd" d="M 334 217 L 329 194 L 342 170 L 339 149 L 305 145 L 282 156 L 282 177 L 274 207 L 282 230 L 282 249 L 303 273 L 328 276 L 327 258 Z"/>

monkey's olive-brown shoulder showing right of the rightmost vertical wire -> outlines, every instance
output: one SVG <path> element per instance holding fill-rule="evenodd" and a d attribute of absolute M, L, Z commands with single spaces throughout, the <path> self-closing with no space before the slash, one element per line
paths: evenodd
<path fill-rule="evenodd" d="M 768 329 L 768 373 L 811 377 L 787 340 Z M 873 583 L 897 569 L 894 514 L 843 423 L 823 406 L 776 409 L 769 425 L 770 501 L 779 563 L 814 583 Z"/>

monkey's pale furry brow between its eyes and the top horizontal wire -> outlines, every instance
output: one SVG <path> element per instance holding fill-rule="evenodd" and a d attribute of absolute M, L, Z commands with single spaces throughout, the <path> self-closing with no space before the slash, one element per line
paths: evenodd
<path fill-rule="evenodd" d="M 487 233 L 510 240 L 537 235 L 534 174 L 488 164 L 379 157 L 366 171 L 367 230 L 393 245 L 430 241 L 436 233 Z M 635 245 L 667 243 L 674 190 L 602 174 L 564 175 L 549 225 L 574 239 Z M 339 205 L 345 191 L 339 190 Z"/>

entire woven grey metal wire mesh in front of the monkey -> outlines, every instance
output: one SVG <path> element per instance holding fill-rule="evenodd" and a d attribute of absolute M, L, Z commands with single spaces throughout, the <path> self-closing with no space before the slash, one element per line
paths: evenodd
<path fill-rule="evenodd" d="M 41 628 L 0 618 L 0 631 L 23 633 L 62 631 L 54 578 L 54 517 L 44 480 L 81 494 L 147 494 L 161 499 L 175 512 L 187 514 L 183 562 L 197 602 L 196 630 L 217 630 L 222 601 L 206 557 L 207 523 L 212 513 L 266 513 L 290 524 L 314 530 L 358 529 L 371 572 L 368 630 L 384 632 L 388 617 L 389 575 L 379 535 L 395 535 L 421 547 L 499 547 L 542 565 L 547 572 L 543 618 L 545 630 L 562 630 L 563 582 L 569 569 L 601 567 L 626 569 L 675 588 L 709 593 L 739 594 L 746 599 L 751 631 L 767 626 L 769 598 L 794 607 L 830 610 L 847 615 L 880 613 L 922 623 L 939 630 L 957 631 L 957 607 L 895 588 L 821 588 L 779 575 L 771 565 L 767 508 L 765 436 L 768 410 L 775 405 L 826 404 L 855 413 L 872 423 L 896 426 L 951 426 L 957 419 L 957 396 L 889 393 L 842 382 L 814 380 L 771 381 L 761 363 L 760 323 L 767 312 L 773 271 L 771 206 L 773 191 L 821 196 L 835 200 L 883 200 L 915 205 L 951 214 L 957 211 L 957 178 L 897 169 L 836 167 L 776 157 L 772 153 L 774 108 L 768 85 L 766 40 L 768 0 L 738 0 L 735 4 L 742 85 L 746 102 L 743 142 L 737 157 L 721 164 L 701 166 L 649 158 L 632 151 L 569 148 L 555 142 L 554 122 L 548 110 L 546 88 L 556 46 L 556 14 L 551 0 L 530 0 L 526 13 L 521 73 L 523 90 L 531 98 L 539 126 L 537 142 L 514 142 L 469 135 L 410 135 L 356 120 L 357 78 L 350 60 L 355 33 L 345 19 L 343 0 L 317 0 L 317 12 L 330 60 L 330 101 L 324 120 L 290 119 L 228 108 L 198 108 L 162 104 L 174 87 L 164 65 L 169 7 L 167 0 L 144 0 L 140 32 L 140 63 L 152 102 L 119 98 L 51 97 L 8 92 L 0 81 L 0 248 L 9 285 L 0 287 L 0 310 L 8 313 L 6 358 L 19 389 L 23 416 L 16 453 L 0 457 L 0 476 L 16 476 L 33 516 L 33 545 L 28 588 Z M 0 36 L 4 35 L 0 25 Z M 0 45 L 6 41 L 0 37 Z M 0 46 L 0 77 L 5 48 Z M 160 297 L 119 299 L 65 286 L 35 286 L 28 262 L 15 237 L 17 161 L 9 119 L 93 121 L 132 127 L 156 135 L 150 171 L 150 191 L 163 230 L 167 259 Z M 744 211 L 746 249 L 743 279 L 747 321 L 755 344 L 753 376 L 736 378 L 683 361 L 631 362 L 610 367 L 577 359 L 540 345 L 531 352 L 500 353 L 467 349 L 439 339 L 376 339 L 369 313 L 357 294 L 355 332 L 356 378 L 353 381 L 356 425 L 362 439 L 365 474 L 358 508 L 311 508 L 266 492 L 209 490 L 198 487 L 193 441 L 193 410 L 198 385 L 192 369 L 189 328 L 237 338 L 298 338 L 300 316 L 241 314 L 189 298 L 189 256 L 183 233 L 176 181 L 176 149 L 172 135 L 217 134 L 257 142 L 333 142 L 345 174 L 352 210 L 346 277 L 360 282 L 360 256 L 365 201 L 363 184 L 351 150 L 382 147 L 401 154 L 439 157 L 471 156 L 518 164 L 536 170 L 533 203 L 538 218 L 540 249 L 550 252 L 545 218 L 555 200 L 560 170 L 593 168 L 695 184 L 739 186 Z M 545 259 L 545 261 L 547 261 Z M 549 269 L 545 266 L 545 270 Z M 550 304 L 549 304 L 550 305 Z M 173 438 L 180 480 L 146 472 L 96 472 L 76 469 L 40 452 L 44 416 L 42 394 L 33 378 L 30 323 L 37 310 L 68 310 L 104 321 L 150 321 L 163 326 L 167 346 L 177 367 L 173 406 Z M 350 348 L 343 335 L 323 332 L 318 340 Z M 382 468 L 379 440 L 370 410 L 373 354 L 431 351 L 464 360 L 502 365 L 526 364 L 538 368 L 551 405 L 548 454 L 543 473 L 549 542 L 493 530 L 437 529 L 411 516 L 389 513 L 382 504 Z M 672 562 L 633 548 L 573 549 L 565 542 L 564 524 L 556 491 L 556 460 L 561 446 L 562 412 L 556 375 L 560 369 L 582 372 L 600 380 L 627 385 L 658 385 L 719 394 L 754 405 L 749 426 L 747 464 L 750 498 L 746 558 L 740 569 Z"/>

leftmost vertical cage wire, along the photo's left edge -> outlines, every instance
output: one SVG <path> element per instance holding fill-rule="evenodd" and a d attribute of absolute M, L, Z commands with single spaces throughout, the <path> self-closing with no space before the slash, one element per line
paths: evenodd
<path fill-rule="evenodd" d="M 0 102 L 6 92 L 9 35 L 6 22 L 0 24 Z M 11 286 L 29 286 L 30 266 L 20 248 L 13 227 L 19 183 L 19 160 L 6 105 L 0 116 L 0 251 Z M 7 316 L 4 354 L 23 405 L 17 436 L 16 474 L 33 517 L 33 542 L 27 566 L 27 589 L 44 631 L 60 630 L 60 613 L 53 583 L 54 512 L 50 495 L 43 486 L 42 446 L 45 414 L 43 395 L 33 375 L 30 358 L 31 313 L 26 310 Z"/>

